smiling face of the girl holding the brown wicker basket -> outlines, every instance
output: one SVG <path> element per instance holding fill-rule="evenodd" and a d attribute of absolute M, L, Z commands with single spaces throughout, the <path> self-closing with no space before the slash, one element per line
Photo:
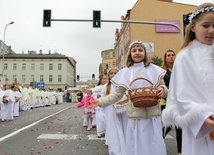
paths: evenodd
<path fill-rule="evenodd" d="M 142 62 L 145 58 L 146 51 L 141 44 L 135 44 L 131 48 L 131 58 L 135 63 Z"/>

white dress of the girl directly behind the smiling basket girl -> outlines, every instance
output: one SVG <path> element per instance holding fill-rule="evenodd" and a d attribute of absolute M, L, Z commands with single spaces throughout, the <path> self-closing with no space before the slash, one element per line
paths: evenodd
<path fill-rule="evenodd" d="M 101 94 L 106 96 L 106 85 L 104 85 Z M 111 92 L 114 91 L 114 85 L 111 84 Z M 121 100 L 126 100 L 124 97 Z M 118 107 L 117 104 L 111 104 L 105 107 L 106 115 L 106 144 L 108 144 L 109 155 L 125 155 L 125 134 L 128 122 L 126 105 Z"/>

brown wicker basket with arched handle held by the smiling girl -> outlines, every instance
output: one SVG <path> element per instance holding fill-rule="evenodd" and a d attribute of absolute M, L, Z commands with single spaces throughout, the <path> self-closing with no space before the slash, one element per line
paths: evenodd
<path fill-rule="evenodd" d="M 129 90 L 130 100 L 132 101 L 135 107 L 152 107 L 158 104 L 158 97 L 156 94 L 157 88 L 154 87 L 153 83 L 145 78 L 137 78 L 130 83 L 131 85 L 136 80 L 145 80 L 151 84 L 151 86 L 145 86 L 140 88 L 133 88 Z"/>

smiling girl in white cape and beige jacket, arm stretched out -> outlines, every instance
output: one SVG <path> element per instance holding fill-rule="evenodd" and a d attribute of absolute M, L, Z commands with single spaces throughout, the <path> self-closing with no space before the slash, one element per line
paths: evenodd
<path fill-rule="evenodd" d="M 111 94 L 94 101 L 94 106 L 113 104 L 123 97 L 127 90 L 151 86 L 144 80 L 151 81 L 156 89 L 156 97 L 165 97 L 167 88 L 163 77 L 165 70 L 151 64 L 145 45 L 134 41 L 129 46 L 126 68 L 120 70 L 111 80 L 117 87 Z M 131 87 L 131 82 L 137 80 Z M 148 103 L 151 103 L 148 101 Z M 127 105 L 128 123 L 126 129 L 126 155 L 166 155 L 162 137 L 161 109 L 159 103 L 151 107 L 135 107 L 130 101 Z"/>

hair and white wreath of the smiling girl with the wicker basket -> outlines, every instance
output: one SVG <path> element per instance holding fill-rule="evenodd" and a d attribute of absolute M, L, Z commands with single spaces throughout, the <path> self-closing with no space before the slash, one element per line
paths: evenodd
<path fill-rule="evenodd" d="M 144 62 L 144 65 L 145 67 L 149 66 L 150 64 L 150 61 L 149 61 L 149 58 L 148 58 L 148 53 L 146 52 L 146 47 L 144 45 L 144 43 L 140 40 L 137 40 L 137 41 L 133 41 L 130 45 L 129 45 L 129 50 L 128 50 L 128 56 L 127 56 L 127 59 L 126 59 L 126 67 L 131 67 L 134 65 L 134 61 L 131 57 L 131 49 L 136 46 L 136 45 L 140 45 L 141 47 L 143 47 L 144 51 L 145 51 L 145 57 L 143 59 L 143 62 Z"/>

